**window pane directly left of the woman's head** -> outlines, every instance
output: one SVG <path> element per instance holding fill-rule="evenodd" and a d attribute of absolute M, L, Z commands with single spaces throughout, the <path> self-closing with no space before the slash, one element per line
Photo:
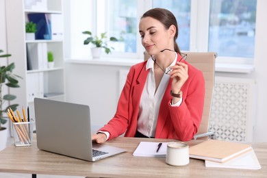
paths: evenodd
<path fill-rule="evenodd" d="M 97 5 L 106 7 L 107 12 L 105 24 L 102 27 L 98 25 L 98 32 L 108 31 L 110 36 L 118 38 L 119 42 L 110 42 L 117 52 L 136 53 L 136 35 L 137 35 L 137 1 L 136 0 L 113 0 L 97 1 Z M 102 14 L 102 15 L 101 15 Z M 98 12 L 103 16 L 103 10 Z"/>

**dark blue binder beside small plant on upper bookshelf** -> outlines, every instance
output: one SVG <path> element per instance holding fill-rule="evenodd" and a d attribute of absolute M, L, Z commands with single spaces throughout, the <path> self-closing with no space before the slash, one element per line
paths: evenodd
<path fill-rule="evenodd" d="M 51 40 L 51 22 L 45 13 L 29 13 L 29 21 L 36 23 L 36 40 Z"/>

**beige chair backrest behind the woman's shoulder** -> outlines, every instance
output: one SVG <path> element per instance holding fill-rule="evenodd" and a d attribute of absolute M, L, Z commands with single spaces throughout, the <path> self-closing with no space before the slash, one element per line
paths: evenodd
<path fill-rule="evenodd" d="M 217 53 L 214 52 L 185 52 L 188 56 L 186 61 L 202 71 L 205 79 L 205 101 L 201 125 L 196 134 L 207 133 L 209 131 L 209 117 L 212 109 L 212 96 L 214 92 L 215 59 Z M 150 57 L 144 52 L 144 60 Z"/>

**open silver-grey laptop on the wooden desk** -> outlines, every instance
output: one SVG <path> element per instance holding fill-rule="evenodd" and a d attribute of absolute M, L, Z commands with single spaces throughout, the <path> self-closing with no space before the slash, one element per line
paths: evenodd
<path fill-rule="evenodd" d="M 90 162 L 126 151 L 92 142 L 88 105 L 35 98 L 34 110 L 38 149 Z"/>

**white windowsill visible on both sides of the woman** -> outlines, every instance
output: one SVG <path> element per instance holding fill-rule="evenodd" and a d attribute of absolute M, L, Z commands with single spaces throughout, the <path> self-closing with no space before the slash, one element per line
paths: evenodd
<path fill-rule="evenodd" d="M 133 66 L 142 60 L 119 58 L 99 58 L 99 59 L 66 59 L 65 62 L 72 64 L 92 64 L 105 66 Z M 251 73 L 255 70 L 253 64 L 227 64 L 218 63 L 215 65 L 215 71 L 220 73 Z"/>

